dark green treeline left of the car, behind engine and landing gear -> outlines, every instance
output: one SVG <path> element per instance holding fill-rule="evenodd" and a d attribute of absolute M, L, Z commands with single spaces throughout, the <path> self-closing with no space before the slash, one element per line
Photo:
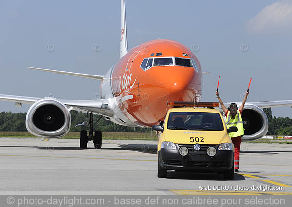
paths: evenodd
<path fill-rule="evenodd" d="M 71 111 L 71 129 L 70 132 L 79 132 L 81 130 L 88 130 L 88 127 L 76 127 L 77 124 L 81 124 L 84 121 L 88 122 L 87 114 L 77 111 Z M 0 131 L 1 132 L 26 132 L 25 127 L 26 113 L 0 113 Z M 97 123 L 99 116 L 93 116 L 93 123 L 95 130 L 101 130 L 102 132 L 151 132 L 151 128 L 135 128 L 126 127 L 115 124 L 104 118 L 100 119 Z"/>

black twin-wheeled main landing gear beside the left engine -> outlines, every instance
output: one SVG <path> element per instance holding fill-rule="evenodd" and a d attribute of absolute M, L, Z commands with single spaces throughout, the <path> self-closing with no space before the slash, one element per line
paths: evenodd
<path fill-rule="evenodd" d="M 101 149 L 101 140 L 102 140 L 102 135 L 101 131 L 97 130 L 95 131 L 93 135 L 93 113 L 88 113 L 89 117 L 89 134 L 87 134 L 86 130 L 82 130 L 80 132 L 80 148 L 81 149 L 86 149 L 87 148 L 87 143 L 88 141 L 93 141 L 94 143 L 94 148 L 95 149 Z M 96 121 L 98 122 L 102 116 Z"/>

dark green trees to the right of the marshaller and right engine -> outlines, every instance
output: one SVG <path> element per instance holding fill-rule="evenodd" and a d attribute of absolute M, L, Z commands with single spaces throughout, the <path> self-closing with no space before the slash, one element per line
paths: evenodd
<path fill-rule="evenodd" d="M 272 109 L 265 108 L 264 112 L 269 121 L 269 131 L 267 135 L 292 136 L 292 119 L 289 117 L 273 117 Z"/>

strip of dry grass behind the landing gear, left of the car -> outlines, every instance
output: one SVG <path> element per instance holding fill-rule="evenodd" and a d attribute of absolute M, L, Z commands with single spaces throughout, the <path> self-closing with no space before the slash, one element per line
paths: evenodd
<path fill-rule="evenodd" d="M 0 137 L 33 137 L 29 132 L 0 132 Z M 80 132 L 69 132 L 66 136 L 60 139 L 79 139 Z M 156 133 L 132 133 L 132 132 L 103 132 L 103 139 L 120 139 L 120 140 L 157 140 Z"/>

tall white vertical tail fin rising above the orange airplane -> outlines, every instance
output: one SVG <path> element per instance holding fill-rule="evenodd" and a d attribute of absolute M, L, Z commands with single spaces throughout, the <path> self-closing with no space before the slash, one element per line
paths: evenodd
<path fill-rule="evenodd" d="M 125 0 L 121 0 L 121 45 L 120 58 L 128 53 Z"/>

